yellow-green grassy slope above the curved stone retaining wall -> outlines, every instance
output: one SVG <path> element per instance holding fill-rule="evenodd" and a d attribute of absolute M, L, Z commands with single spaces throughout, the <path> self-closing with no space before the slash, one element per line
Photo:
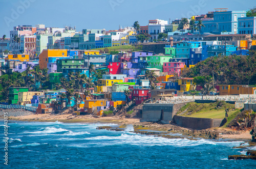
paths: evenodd
<path fill-rule="evenodd" d="M 187 109 L 187 111 L 181 116 L 194 118 L 223 119 L 225 118 L 225 106 L 229 109 L 234 108 L 234 104 L 228 103 L 224 103 L 220 109 L 216 109 L 216 103 L 197 104 L 193 102 L 183 106 L 178 114 Z M 236 111 L 237 110 L 229 111 L 228 116 L 232 116 Z"/>

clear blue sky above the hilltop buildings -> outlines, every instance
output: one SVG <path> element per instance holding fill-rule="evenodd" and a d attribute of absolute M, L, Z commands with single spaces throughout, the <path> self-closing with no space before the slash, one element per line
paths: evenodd
<path fill-rule="evenodd" d="M 255 0 L 0 0 L 0 37 L 10 37 L 17 25 L 45 24 L 46 27 L 76 26 L 82 29 L 118 30 L 150 19 L 172 21 L 176 18 L 206 14 L 214 8 L 247 11 Z"/>

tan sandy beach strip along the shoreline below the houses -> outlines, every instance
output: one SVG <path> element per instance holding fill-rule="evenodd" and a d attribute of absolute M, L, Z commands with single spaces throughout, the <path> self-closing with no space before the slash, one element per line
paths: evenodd
<path fill-rule="evenodd" d="M 189 130 L 175 125 L 157 124 L 157 123 L 140 123 L 138 118 L 125 118 L 125 117 L 93 117 L 92 115 L 86 116 L 73 116 L 71 114 L 38 114 L 28 116 L 9 117 L 9 121 L 40 121 L 40 122 L 63 122 L 63 123 L 115 123 L 119 125 L 133 124 L 133 126 L 140 126 L 140 129 L 150 129 L 155 131 L 170 131 L 176 130 L 184 131 Z M 236 131 L 229 128 L 214 128 L 207 129 L 208 131 L 215 131 L 219 133 L 219 139 L 228 140 L 251 140 L 250 131 Z"/>

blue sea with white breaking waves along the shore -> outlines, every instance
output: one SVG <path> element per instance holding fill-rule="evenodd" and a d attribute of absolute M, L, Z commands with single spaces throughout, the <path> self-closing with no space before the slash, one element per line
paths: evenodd
<path fill-rule="evenodd" d="M 8 126 L 8 166 L 1 159 L 0 168 L 256 168 L 256 160 L 227 159 L 245 153 L 232 149 L 242 141 L 167 139 L 131 133 L 132 126 L 125 131 L 96 130 L 115 124 L 15 122 Z M 2 125 L 2 158 L 3 133 Z"/>

